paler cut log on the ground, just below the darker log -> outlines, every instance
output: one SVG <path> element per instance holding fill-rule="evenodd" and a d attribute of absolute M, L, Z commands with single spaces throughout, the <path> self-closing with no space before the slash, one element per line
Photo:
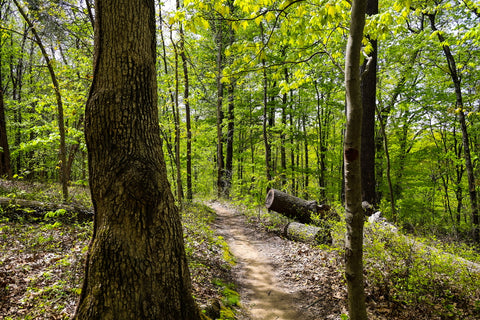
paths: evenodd
<path fill-rule="evenodd" d="M 285 226 L 283 234 L 290 240 L 304 243 L 332 244 L 332 236 L 328 227 L 315 227 L 299 222 L 290 222 Z"/>

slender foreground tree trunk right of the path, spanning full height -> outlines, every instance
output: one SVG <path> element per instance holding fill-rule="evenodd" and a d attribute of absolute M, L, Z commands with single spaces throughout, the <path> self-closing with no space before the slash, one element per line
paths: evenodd
<path fill-rule="evenodd" d="M 347 123 L 345 161 L 345 276 L 351 320 L 366 320 L 363 280 L 363 222 L 361 180 L 362 96 L 360 90 L 360 50 L 365 26 L 366 0 L 353 0 L 350 33 L 345 54 Z"/>

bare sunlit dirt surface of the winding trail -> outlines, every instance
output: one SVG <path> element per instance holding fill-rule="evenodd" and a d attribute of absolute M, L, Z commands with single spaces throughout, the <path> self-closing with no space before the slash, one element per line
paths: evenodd
<path fill-rule="evenodd" d="M 279 250 L 282 239 L 261 234 L 246 226 L 245 217 L 219 203 L 211 204 L 218 217 L 214 227 L 225 238 L 235 256 L 242 305 L 251 319 L 313 319 L 298 307 L 305 297 L 278 279 L 271 261 L 272 250 Z M 278 253 L 278 252 L 277 252 Z M 298 289 L 298 288 L 297 288 Z"/>

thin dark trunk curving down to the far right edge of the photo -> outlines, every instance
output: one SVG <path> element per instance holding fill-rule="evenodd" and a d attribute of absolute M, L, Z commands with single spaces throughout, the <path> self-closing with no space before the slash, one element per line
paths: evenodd
<path fill-rule="evenodd" d="M 435 25 L 436 14 L 429 14 L 430 27 L 433 31 L 438 31 Z M 475 183 L 475 173 L 473 169 L 472 157 L 470 154 L 470 142 L 467 130 L 467 122 L 465 120 L 465 111 L 463 106 L 462 98 L 462 89 L 461 89 L 461 80 L 458 77 L 457 66 L 455 63 L 455 58 L 450 50 L 450 46 L 445 43 L 445 38 L 441 32 L 437 32 L 437 37 L 440 43 L 442 43 L 443 53 L 447 59 L 448 70 L 450 72 L 450 77 L 455 88 L 456 95 L 456 108 L 458 111 L 458 120 L 460 121 L 460 129 L 462 130 L 462 142 L 463 142 L 463 154 L 465 157 L 465 168 L 467 170 L 468 177 L 468 193 L 470 195 L 470 207 L 472 210 L 472 223 L 473 223 L 473 240 L 477 243 L 480 243 L 480 224 L 479 224 L 479 208 L 478 208 L 478 199 L 477 199 L 477 189 Z"/>

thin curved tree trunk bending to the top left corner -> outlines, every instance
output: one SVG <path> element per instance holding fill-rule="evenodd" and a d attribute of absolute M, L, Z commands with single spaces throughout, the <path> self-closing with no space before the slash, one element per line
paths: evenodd
<path fill-rule="evenodd" d="M 22 6 L 18 3 L 17 0 L 13 0 L 15 5 L 18 8 L 18 11 L 25 19 L 25 22 L 29 25 L 30 29 L 32 30 L 33 36 L 35 38 L 35 43 L 40 48 L 42 52 L 42 56 L 45 59 L 45 63 L 47 64 L 48 72 L 50 73 L 50 78 L 52 79 L 53 89 L 55 91 L 55 97 L 57 100 L 57 119 L 58 119 L 58 131 L 60 133 L 60 181 L 62 184 L 62 194 L 63 200 L 68 200 L 68 173 L 67 173 L 67 147 L 65 142 L 65 121 L 63 118 L 63 103 L 62 103 L 62 95 L 60 93 L 60 85 L 57 81 L 57 77 L 55 75 L 55 71 L 53 69 L 53 64 L 48 56 L 47 51 L 43 45 L 42 39 L 40 38 L 37 30 L 35 29 L 33 23 L 30 21 L 29 17 L 23 10 Z"/>

